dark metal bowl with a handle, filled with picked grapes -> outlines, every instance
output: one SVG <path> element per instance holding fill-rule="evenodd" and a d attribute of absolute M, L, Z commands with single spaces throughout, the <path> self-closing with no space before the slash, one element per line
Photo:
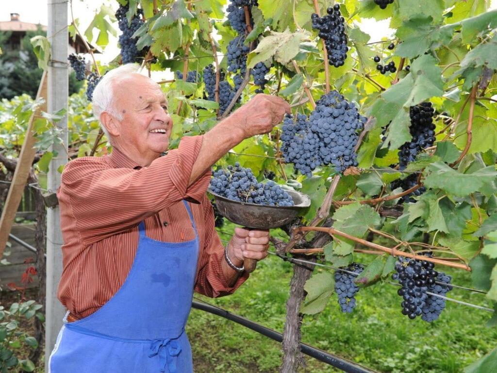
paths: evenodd
<path fill-rule="evenodd" d="M 221 215 L 233 223 L 247 228 L 269 229 L 288 224 L 296 216 L 302 214 L 311 205 L 308 195 L 295 190 L 286 190 L 295 202 L 293 206 L 266 206 L 228 199 L 208 190 L 214 195 L 216 206 Z"/>

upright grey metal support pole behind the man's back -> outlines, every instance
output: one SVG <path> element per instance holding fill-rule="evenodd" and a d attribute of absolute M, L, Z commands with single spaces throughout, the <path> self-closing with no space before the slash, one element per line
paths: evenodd
<path fill-rule="evenodd" d="M 48 69 L 48 112 L 55 113 L 68 108 L 69 75 L 68 65 L 54 61 L 67 61 L 68 50 L 68 1 L 48 0 L 47 37 L 51 44 L 51 61 Z M 47 178 L 49 190 L 56 190 L 61 181 L 58 169 L 67 163 L 67 116 L 57 126 L 62 129 L 63 144 L 54 144 Z M 45 372 L 48 372 L 49 356 L 62 327 L 65 308 L 57 299 L 57 288 L 62 274 L 62 232 L 59 206 L 47 211 L 47 296 L 45 304 Z"/>

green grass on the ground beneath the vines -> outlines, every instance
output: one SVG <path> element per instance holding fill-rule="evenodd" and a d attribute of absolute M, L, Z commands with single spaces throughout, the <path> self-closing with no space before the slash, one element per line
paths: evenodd
<path fill-rule="evenodd" d="M 363 255 L 356 260 L 372 259 Z M 468 273 L 443 271 L 453 283 L 471 286 Z M 291 276 L 291 264 L 269 256 L 235 294 L 196 297 L 282 332 Z M 302 341 L 389 373 L 460 373 L 496 347 L 497 329 L 485 327 L 490 313 L 450 302 L 433 323 L 410 320 L 401 314 L 396 290 L 388 283 L 361 289 L 352 314 L 339 311 L 333 294 L 321 314 L 305 316 Z M 454 289 L 448 296 L 491 307 L 483 294 Z M 281 346 L 241 325 L 192 309 L 187 332 L 198 372 L 278 372 Z M 301 372 L 340 372 L 310 357 L 306 362 Z"/>

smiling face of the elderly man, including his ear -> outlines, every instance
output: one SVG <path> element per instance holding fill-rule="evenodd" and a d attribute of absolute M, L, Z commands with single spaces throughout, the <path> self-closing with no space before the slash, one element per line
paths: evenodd
<path fill-rule="evenodd" d="M 113 86 L 119 120 L 102 113 L 102 120 L 116 146 L 129 158 L 148 166 L 167 150 L 172 119 L 161 87 L 150 78 L 131 74 Z"/>

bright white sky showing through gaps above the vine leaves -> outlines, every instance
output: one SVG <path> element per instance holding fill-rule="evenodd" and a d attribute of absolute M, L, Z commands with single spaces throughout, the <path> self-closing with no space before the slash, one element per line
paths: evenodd
<path fill-rule="evenodd" d="M 47 25 L 48 14 L 47 14 L 47 1 L 53 0 L 0 0 L 1 13 L 0 20 L 9 20 L 10 13 L 19 13 L 20 19 L 24 22 L 30 23 L 41 23 Z M 429 1 L 429 0 L 428 0 Z M 73 10 L 76 18 L 79 18 L 80 31 L 84 32 L 86 27 L 89 25 L 93 19 L 95 11 L 97 11 L 100 6 L 104 4 L 110 4 L 113 8 L 117 9 L 117 1 L 108 0 L 73 0 Z M 497 0 L 492 0 L 492 9 L 497 9 Z M 71 12 L 69 12 L 68 17 L 69 23 L 71 23 Z M 360 25 L 361 29 L 371 35 L 371 41 L 379 41 L 382 37 L 391 34 L 392 30 L 388 28 L 388 20 L 376 21 L 374 19 L 365 19 Z M 116 24 L 117 28 L 117 24 Z M 117 30 L 119 32 L 119 30 Z M 96 37 L 97 33 L 94 33 Z M 117 40 L 113 40 L 112 36 L 109 41 L 109 46 L 105 49 L 103 55 L 98 56 L 103 63 L 111 61 L 119 53 L 117 47 Z M 155 79 L 162 79 L 161 76 L 154 76 Z"/>

